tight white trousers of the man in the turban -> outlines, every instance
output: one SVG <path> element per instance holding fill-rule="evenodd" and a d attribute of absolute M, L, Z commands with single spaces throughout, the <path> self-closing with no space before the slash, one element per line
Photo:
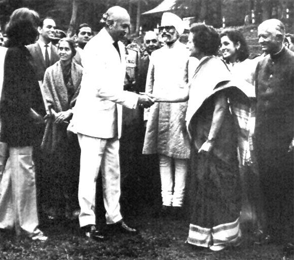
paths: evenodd
<path fill-rule="evenodd" d="M 174 163 L 174 183 L 173 167 Z M 164 206 L 181 207 L 185 194 L 187 159 L 159 155 L 161 196 Z"/>

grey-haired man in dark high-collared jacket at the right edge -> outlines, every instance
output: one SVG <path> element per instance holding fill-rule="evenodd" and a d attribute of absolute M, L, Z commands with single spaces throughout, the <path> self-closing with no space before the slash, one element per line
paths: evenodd
<path fill-rule="evenodd" d="M 268 53 L 256 68 L 255 147 L 265 195 L 268 240 L 293 240 L 294 53 L 283 46 L 284 25 L 258 28 Z"/>

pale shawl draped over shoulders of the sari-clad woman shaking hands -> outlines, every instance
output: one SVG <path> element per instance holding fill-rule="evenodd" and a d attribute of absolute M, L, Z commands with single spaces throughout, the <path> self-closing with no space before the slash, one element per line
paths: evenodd
<path fill-rule="evenodd" d="M 231 73 L 222 60 L 215 56 L 201 59 L 189 89 L 189 102 L 186 113 L 186 126 L 190 138 L 192 137 L 192 119 L 209 98 L 220 90 L 227 90 L 230 111 L 238 123 L 238 146 L 242 152 L 244 146 L 241 136 L 248 138 L 249 99 L 247 98 L 245 83 L 232 80 Z M 196 147 L 199 146 L 196 145 Z M 198 147 L 200 148 L 200 147 Z"/>

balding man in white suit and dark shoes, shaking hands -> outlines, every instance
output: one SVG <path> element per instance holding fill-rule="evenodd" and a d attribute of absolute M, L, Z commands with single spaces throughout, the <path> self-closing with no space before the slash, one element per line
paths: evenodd
<path fill-rule="evenodd" d="M 84 49 L 81 91 L 76 103 L 75 124 L 81 146 L 79 183 L 80 226 L 86 236 L 103 239 L 95 221 L 95 186 L 101 167 L 106 224 L 116 231 L 136 233 L 120 213 L 119 138 L 122 105 L 135 109 L 150 107 L 151 98 L 123 90 L 126 74 L 125 47 L 120 41 L 129 30 L 130 16 L 112 7 L 102 18 L 104 28 Z"/>

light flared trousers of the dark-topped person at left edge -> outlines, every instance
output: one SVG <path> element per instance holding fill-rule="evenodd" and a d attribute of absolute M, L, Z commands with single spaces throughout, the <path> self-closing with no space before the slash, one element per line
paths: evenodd
<path fill-rule="evenodd" d="M 0 184 L 0 229 L 15 228 L 34 238 L 43 233 L 37 228 L 36 190 L 32 147 L 10 147 Z"/>

